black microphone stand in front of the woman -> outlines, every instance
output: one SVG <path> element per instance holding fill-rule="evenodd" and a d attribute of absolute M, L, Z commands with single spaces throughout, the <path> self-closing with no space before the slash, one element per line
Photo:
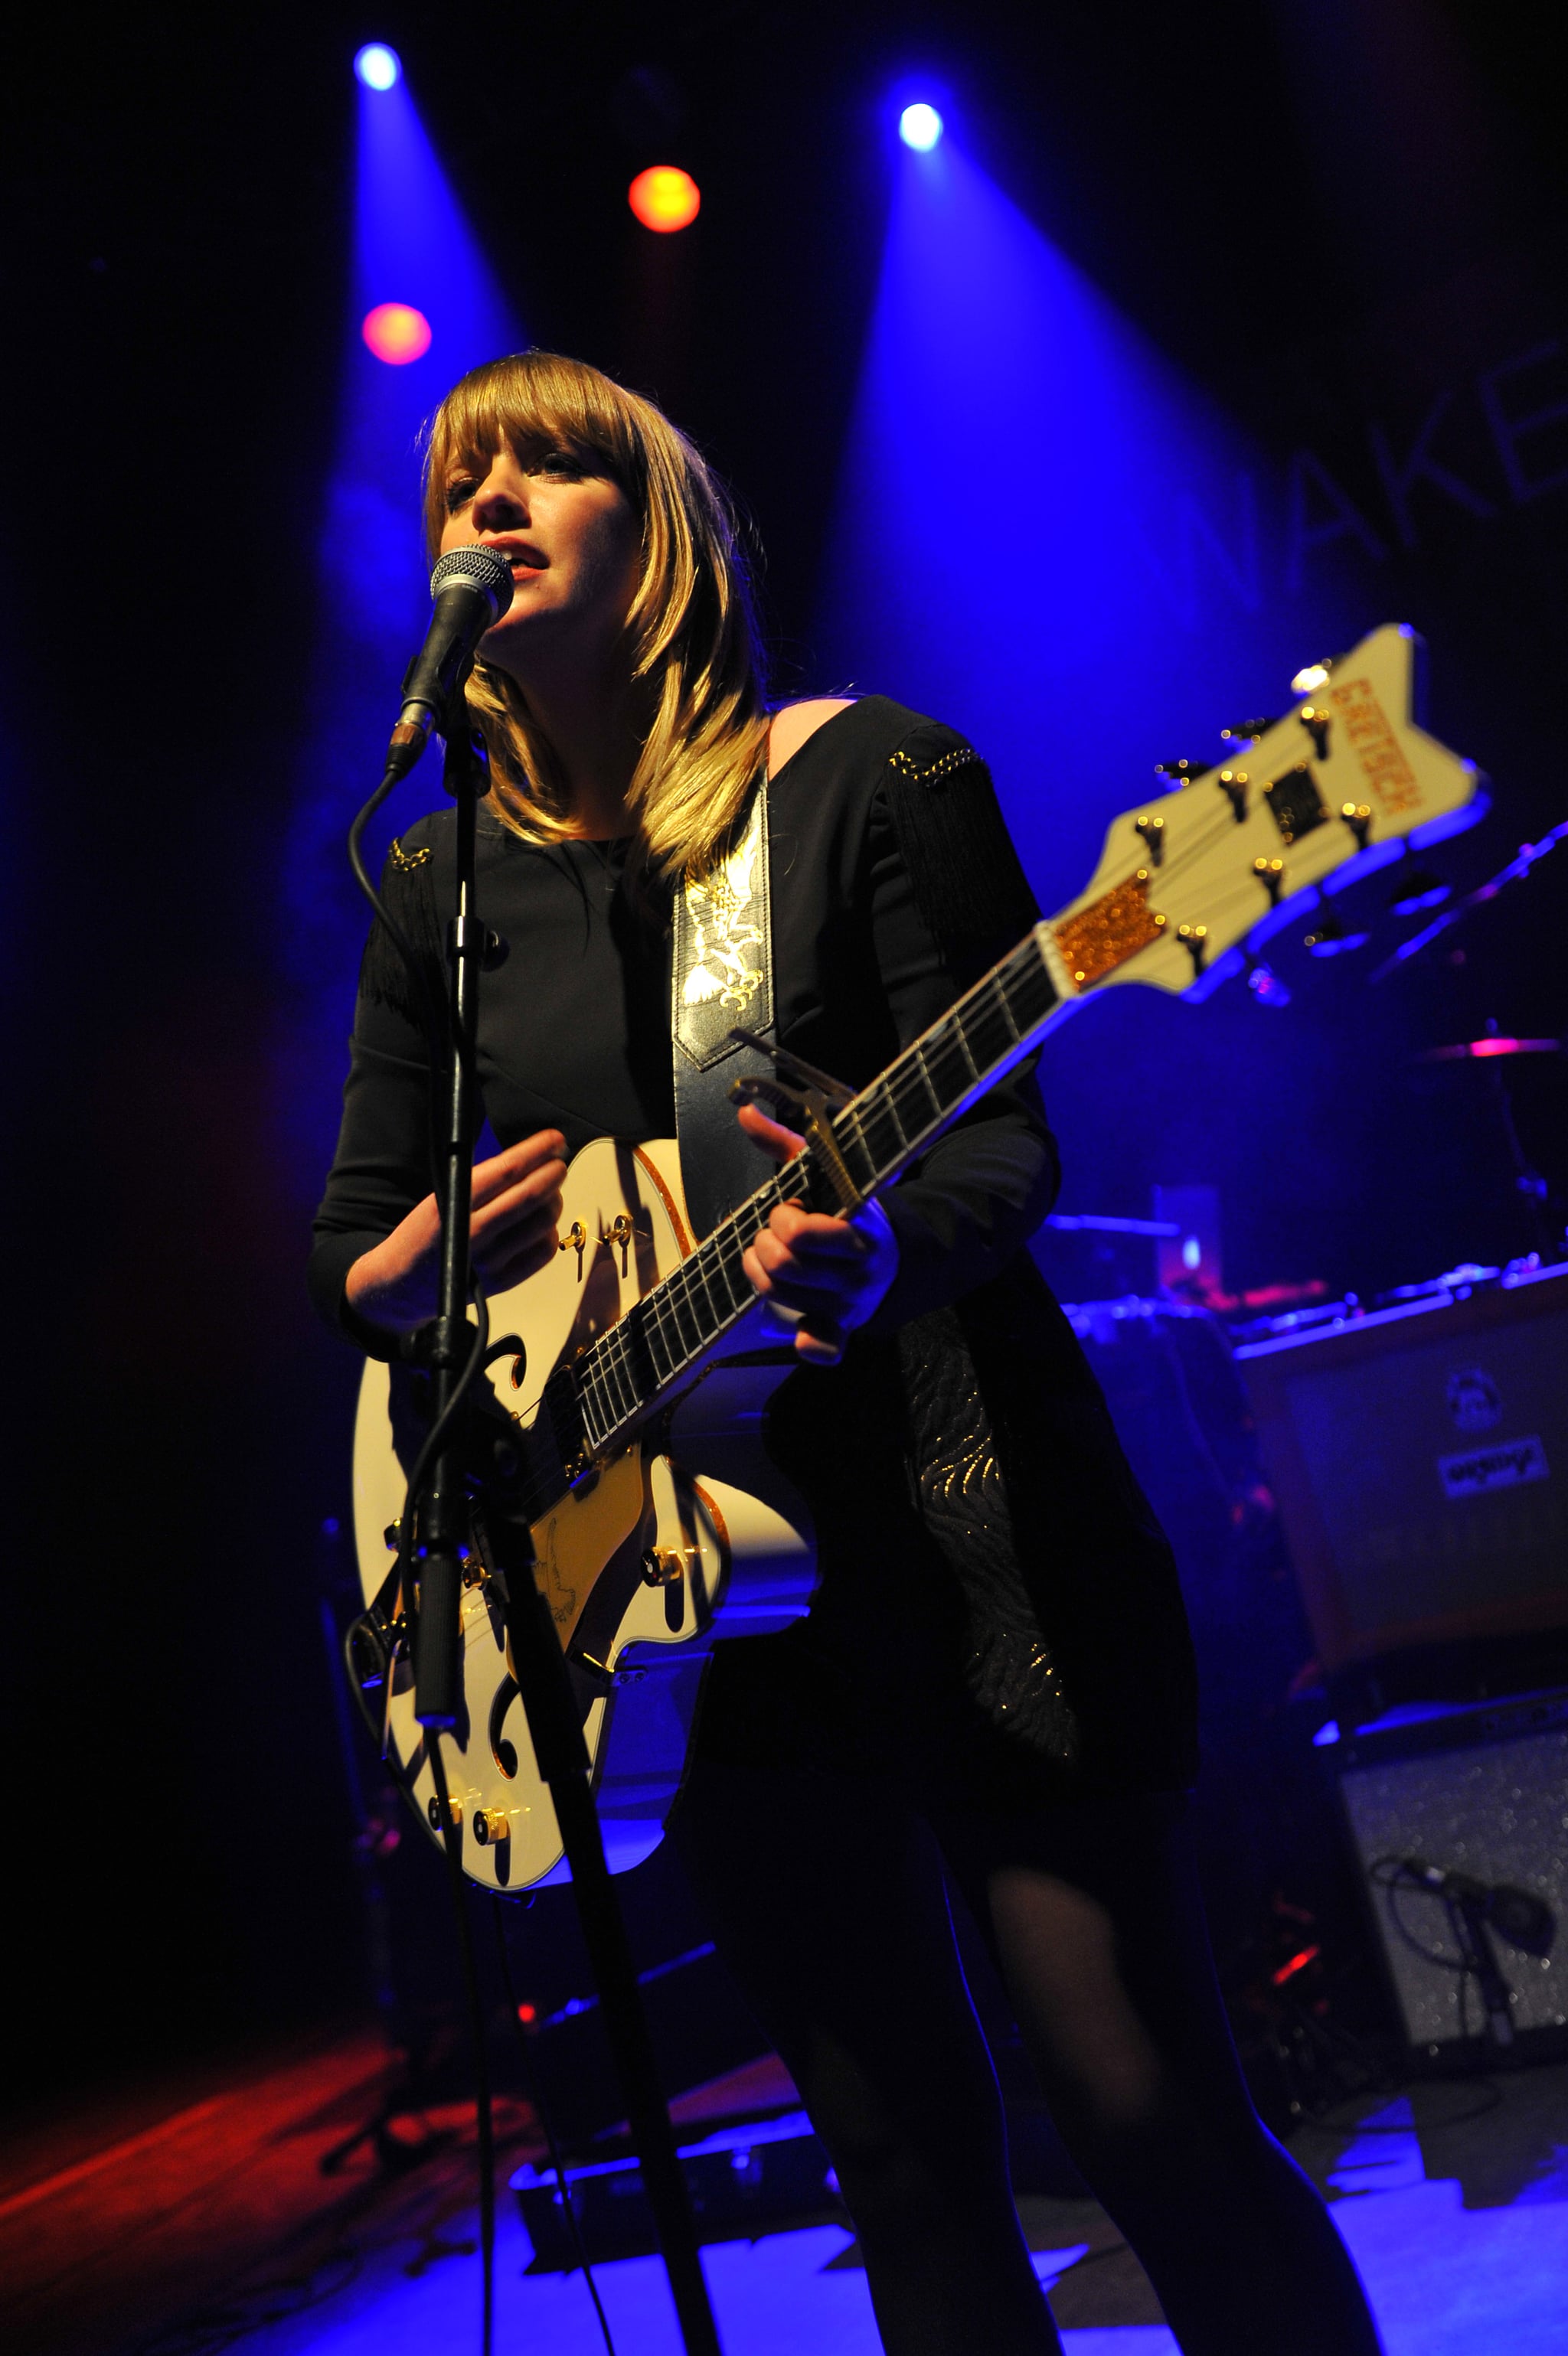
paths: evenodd
<path fill-rule="evenodd" d="M 467 674 L 465 674 L 467 676 Z M 453 1053 L 441 1138 L 441 1291 L 429 1348 L 434 1369 L 436 1416 L 443 1416 L 462 1383 L 472 1355 L 467 1305 L 472 1293 L 469 1211 L 474 1194 L 474 1136 L 479 1129 L 476 1037 L 479 978 L 488 964 L 500 964 L 505 945 L 490 935 L 474 912 L 474 820 L 488 794 L 483 747 L 474 740 L 462 679 L 443 714 L 446 763 L 443 785 L 457 803 L 457 893 L 448 928 L 448 968 L 453 978 Z M 467 1468 L 460 1418 L 436 1454 L 431 1484 L 420 1510 L 417 1531 L 417 1614 L 413 1621 L 415 1718 L 429 1729 L 436 1753 L 436 1795 L 448 1859 L 457 1859 L 460 1828 L 453 1821 L 439 1739 L 462 1718 L 462 1548 L 472 1536 Z M 599 1984 L 599 2003 L 627 2102 L 632 2146 L 641 2165 L 644 2193 L 653 2212 L 670 2295 L 686 2356 L 722 2356 L 703 2259 L 698 2252 L 691 2193 L 674 2149 L 670 2109 L 658 2083 L 653 2043 L 637 1986 L 637 1965 L 627 1941 L 620 1901 L 604 1857 L 599 1812 L 592 1798 L 582 1718 L 573 1696 L 566 1654 L 556 1637 L 533 1564 L 509 1546 L 505 1579 L 505 1621 L 528 1736 L 540 1776 L 556 1809 L 566 1864 L 582 1922 L 587 1955 Z M 493 2186 L 486 2186 L 486 2201 Z"/>

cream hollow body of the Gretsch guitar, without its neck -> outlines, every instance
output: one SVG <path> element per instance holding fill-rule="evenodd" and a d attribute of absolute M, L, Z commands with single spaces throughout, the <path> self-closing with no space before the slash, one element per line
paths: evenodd
<path fill-rule="evenodd" d="M 766 1402 L 795 1359 L 766 1345 L 755 1305 L 743 1303 L 740 1317 L 726 1322 L 724 1362 L 691 1369 L 674 1409 L 637 1418 L 575 1477 L 571 1461 L 556 1472 L 573 1449 L 578 1385 L 566 1392 L 556 1383 L 552 1395 L 547 1376 L 594 1364 L 599 1348 L 599 1374 L 613 1383 L 615 1350 L 606 1343 L 637 1303 L 660 1301 L 693 1260 L 674 1140 L 627 1147 L 599 1138 L 582 1147 L 561 1187 L 561 1237 L 540 1275 L 490 1301 L 490 1331 L 523 1343 L 521 1355 L 498 1362 L 490 1385 L 512 1423 L 523 1482 L 556 1489 L 538 1517 L 523 1505 L 533 1576 L 578 1670 L 604 1847 L 611 1871 L 622 1873 L 658 1845 L 679 1791 L 719 1609 L 724 1635 L 785 1628 L 809 1604 L 816 1560 L 811 1515 L 762 1442 Z M 677 1333 L 696 1338 L 698 1315 L 707 1324 L 719 1303 L 703 1286 L 700 1308 L 693 1296 L 677 1310 L 667 1293 L 660 1308 L 679 1348 Z M 762 1362 L 733 1364 L 752 1355 Z M 620 1404 L 615 1385 L 608 1414 Z M 561 1421 L 573 1432 L 566 1449 Z M 389 1560 L 384 1531 L 403 1510 L 406 1468 L 389 1435 L 391 1369 L 373 1362 L 354 1442 L 354 1527 L 365 1581 L 375 1567 L 377 1586 Z M 446 1739 L 446 1758 L 467 1871 L 519 1890 L 568 1875 L 509 1673 L 495 1569 L 479 1548 L 465 1562 L 467 1725 Z M 401 1652 L 387 1703 L 389 1748 L 434 1833 L 434 1781 L 413 1701 Z"/>

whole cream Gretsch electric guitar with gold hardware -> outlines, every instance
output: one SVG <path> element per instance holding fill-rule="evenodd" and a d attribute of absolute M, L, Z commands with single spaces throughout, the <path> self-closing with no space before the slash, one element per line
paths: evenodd
<path fill-rule="evenodd" d="M 1037 924 L 854 1100 L 816 1100 L 802 1162 L 696 1244 L 674 1143 L 604 1138 L 571 1164 L 552 1265 L 490 1301 L 519 1355 L 488 1369 L 488 1482 L 531 1536 L 533 1576 L 582 1696 L 613 1871 L 658 1845 L 681 1786 L 714 1637 L 797 1619 L 813 1586 L 804 1503 L 762 1444 L 769 1395 L 797 1364 L 759 1331 L 740 1256 L 769 1211 L 891 1185 L 1075 1006 L 1108 982 L 1207 997 L 1247 952 L 1368 869 L 1471 825 L 1474 763 L 1412 726 L 1417 641 L 1384 627 L 1335 664 L 1231 766 L 1113 820 L 1089 888 Z M 797 1124 L 799 1126 L 799 1124 Z M 410 1435 L 401 1432 L 403 1454 Z M 365 1602 L 387 1583 L 403 1510 L 389 1369 L 368 1364 L 354 1437 Z M 514 1574 L 516 1576 L 516 1574 Z M 528 1576 L 528 1574 L 523 1574 Z M 361 1687 L 389 1762 L 436 1833 L 424 1729 L 396 1602 L 382 1668 Z M 389 1654 L 389 1659 L 387 1659 Z M 507 1656 L 486 1546 L 465 1562 L 465 1715 L 446 1776 L 469 1875 L 498 1890 L 566 1880 Z M 439 1838 L 439 1835 L 436 1835 Z"/>

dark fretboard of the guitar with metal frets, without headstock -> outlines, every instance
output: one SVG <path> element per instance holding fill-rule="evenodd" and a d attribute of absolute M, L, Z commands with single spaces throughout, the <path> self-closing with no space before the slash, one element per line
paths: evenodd
<path fill-rule="evenodd" d="M 1045 961 L 1047 926 L 967 990 L 879 1079 L 832 1117 L 832 1136 L 861 1194 L 889 1185 L 1040 1041 L 1056 1006 Z M 601 1333 L 571 1369 L 582 1440 L 599 1456 L 618 1432 L 674 1388 L 755 1303 L 743 1256 L 783 1202 L 837 1211 L 813 1145 L 722 1220 L 663 1284 Z"/>

